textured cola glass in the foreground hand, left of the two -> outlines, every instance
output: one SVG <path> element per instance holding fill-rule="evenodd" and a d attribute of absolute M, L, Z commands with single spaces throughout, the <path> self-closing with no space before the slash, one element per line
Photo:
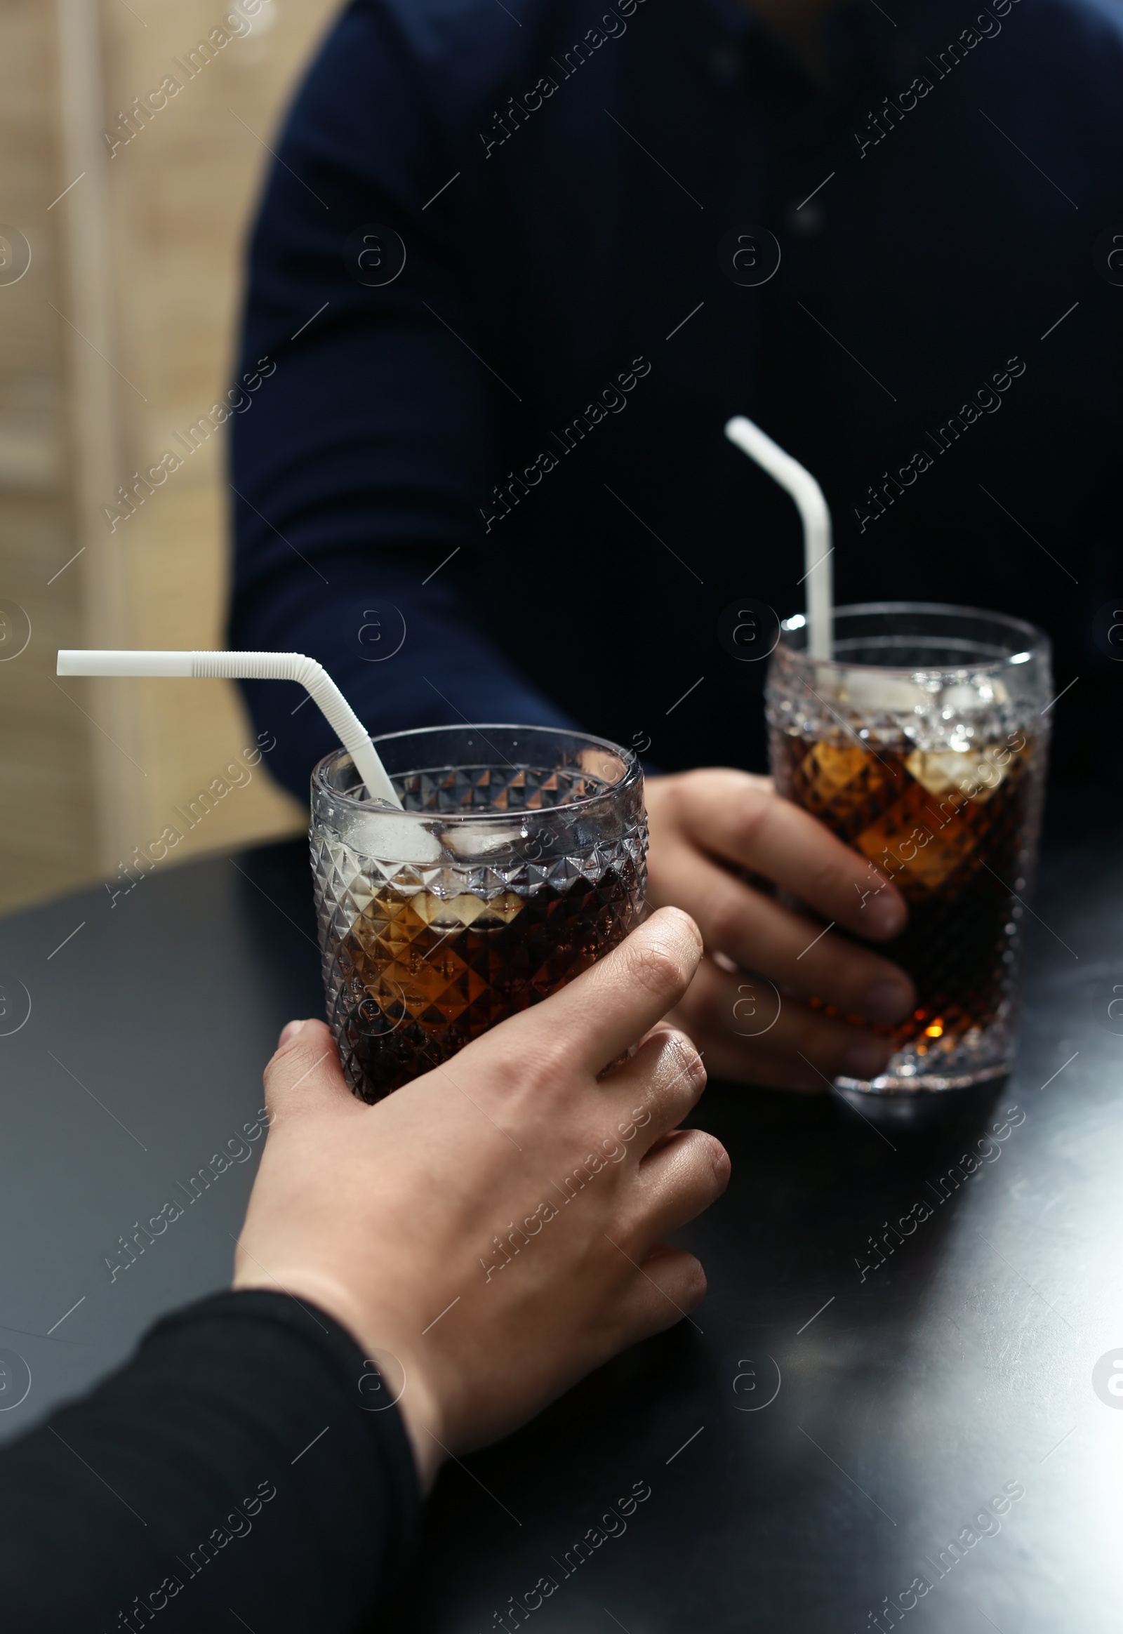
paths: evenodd
<path fill-rule="evenodd" d="M 639 923 L 639 760 L 580 732 L 427 727 L 376 739 L 405 810 L 345 750 L 312 773 L 327 1015 L 376 1101 L 556 992 Z"/>

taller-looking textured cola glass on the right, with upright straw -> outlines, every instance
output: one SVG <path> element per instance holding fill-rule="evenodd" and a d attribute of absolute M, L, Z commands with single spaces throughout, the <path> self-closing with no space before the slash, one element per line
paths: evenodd
<path fill-rule="evenodd" d="M 917 1008 L 875 1029 L 897 1046 L 886 1070 L 839 1088 L 955 1090 L 1010 1069 L 1051 699 L 1048 636 L 999 613 L 837 608 L 832 662 L 808 657 L 801 616 L 780 626 L 767 685 L 776 788 L 909 904 L 878 949 L 909 972 Z"/>

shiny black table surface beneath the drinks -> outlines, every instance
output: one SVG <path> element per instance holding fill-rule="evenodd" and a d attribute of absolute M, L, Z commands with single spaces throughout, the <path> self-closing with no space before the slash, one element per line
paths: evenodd
<path fill-rule="evenodd" d="M 111 1268 L 320 1013 L 309 895 L 294 843 L 0 925 L 0 1436 L 227 1283 L 257 1154 Z M 708 1299 L 446 1469 L 387 1626 L 1115 1634 L 1120 909 L 1112 837 L 1054 840 L 1017 1070 L 928 1126 L 711 1087 L 732 1181 L 682 1234 Z"/>

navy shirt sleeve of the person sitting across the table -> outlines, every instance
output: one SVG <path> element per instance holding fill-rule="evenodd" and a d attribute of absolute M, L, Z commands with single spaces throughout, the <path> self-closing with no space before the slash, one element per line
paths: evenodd
<path fill-rule="evenodd" d="M 373 734 L 572 724 L 479 627 L 481 605 L 503 598 L 482 515 L 503 359 L 481 358 L 458 194 L 433 194 L 464 163 L 448 103 L 471 100 L 472 64 L 500 72 L 502 52 L 423 25 L 353 5 L 268 178 L 230 394 L 229 639 L 319 659 Z M 330 727 L 288 683 L 245 696 L 278 739 L 271 770 L 306 799 Z"/>

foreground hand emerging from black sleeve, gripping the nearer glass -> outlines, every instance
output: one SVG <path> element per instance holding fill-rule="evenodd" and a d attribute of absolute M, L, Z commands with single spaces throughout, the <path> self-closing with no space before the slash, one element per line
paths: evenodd
<path fill-rule="evenodd" d="M 703 1297 L 698 1261 L 662 1239 L 721 1196 L 729 1159 L 677 1127 L 706 1074 L 659 1025 L 700 958 L 696 925 L 655 913 L 376 1106 L 348 1092 L 322 1023 L 281 1034 L 234 1286 L 281 1288 L 397 1358 L 384 1379 L 404 1369 L 423 1485 L 446 1451 L 507 1435 Z M 371 1377 L 355 1384 L 360 1407 Z"/>

